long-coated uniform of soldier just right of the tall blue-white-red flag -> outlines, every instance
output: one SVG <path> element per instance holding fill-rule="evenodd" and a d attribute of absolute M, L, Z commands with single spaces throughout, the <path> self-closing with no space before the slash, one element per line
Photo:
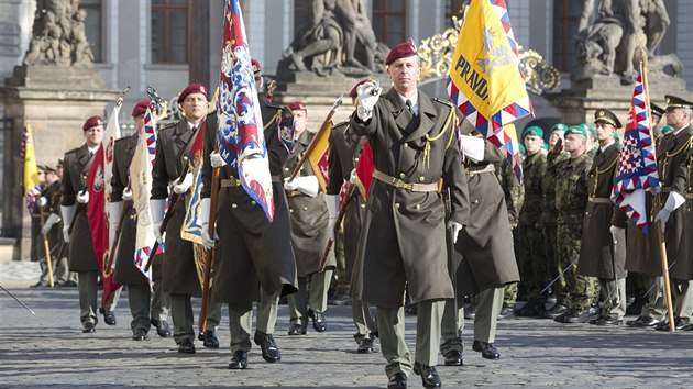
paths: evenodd
<path fill-rule="evenodd" d="M 308 131 L 300 134 L 284 165 L 284 177 L 288 177 L 294 170 L 312 137 Z M 309 164 L 304 164 L 298 177 L 315 174 Z M 299 190 L 287 190 L 286 196 L 292 221 L 292 246 L 298 271 L 298 292 L 288 296 L 290 323 L 305 329 L 310 314 L 316 330 L 321 332 L 324 331 L 322 325 L 327 323 L 318 324 L 316 321 L 324 321 L 321 315 L 327 310 L 327 291 L 337 266 L 334 252 L 330 251 L 324 271 L 319 271 L 320 259 L 332 234 L 328 229 L 328 205 L 321 191 L 316 197 L 310 197 Z"/>

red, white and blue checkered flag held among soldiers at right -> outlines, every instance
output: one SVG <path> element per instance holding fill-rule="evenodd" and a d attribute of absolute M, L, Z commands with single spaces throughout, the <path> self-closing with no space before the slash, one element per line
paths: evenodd
<path fill-rule="evenodd" d="M 612 200 L 642 231 L 648 233 L 645 189 L 659 187 L 659 174 L 650 133 L 650 102 L 642 81 L 642 66 L 632 91 L 628 123 L 624 132 L 618 170 L 612 189 Z"/>

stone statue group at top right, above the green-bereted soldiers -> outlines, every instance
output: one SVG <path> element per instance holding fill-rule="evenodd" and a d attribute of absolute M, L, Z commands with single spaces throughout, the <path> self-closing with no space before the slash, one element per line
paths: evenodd
<path fill-rule="evenodd" d="M 671 24 L 663 0 L 600 0 L 597 19 L 588 23 L 595 0 L 584 2 L 579 22 L 575 51 L 579 66 L 571 78 L 581 80 L 595 75 L 617 74 L 622 84 L 632 84 L 639 60 L 638 37 L 646 36 L 649 70 L 679 77 L 683 66 L 675 54 L 656 56 L 667 29 Z"/>

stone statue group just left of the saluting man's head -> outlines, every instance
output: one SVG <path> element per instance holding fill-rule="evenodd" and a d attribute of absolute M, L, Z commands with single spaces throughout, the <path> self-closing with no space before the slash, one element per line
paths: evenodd
<path fill-rule="evenodd" d="M 365 76 L 384 60 L 363 0 L 314 0 L 310 24 L 283 53 L 279 67 L 326 76 Z"/>

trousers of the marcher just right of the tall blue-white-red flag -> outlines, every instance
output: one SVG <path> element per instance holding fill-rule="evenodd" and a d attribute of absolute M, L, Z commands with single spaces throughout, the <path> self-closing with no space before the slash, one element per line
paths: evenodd
<path fill-rule="evenodd" d="M 327 292 L 332 280 L 333 269 L 316 271 L 298 277 L 298 291 L 287 296 L 292 324 L 308 325 L 308 310 L 327 311 Z"/>

